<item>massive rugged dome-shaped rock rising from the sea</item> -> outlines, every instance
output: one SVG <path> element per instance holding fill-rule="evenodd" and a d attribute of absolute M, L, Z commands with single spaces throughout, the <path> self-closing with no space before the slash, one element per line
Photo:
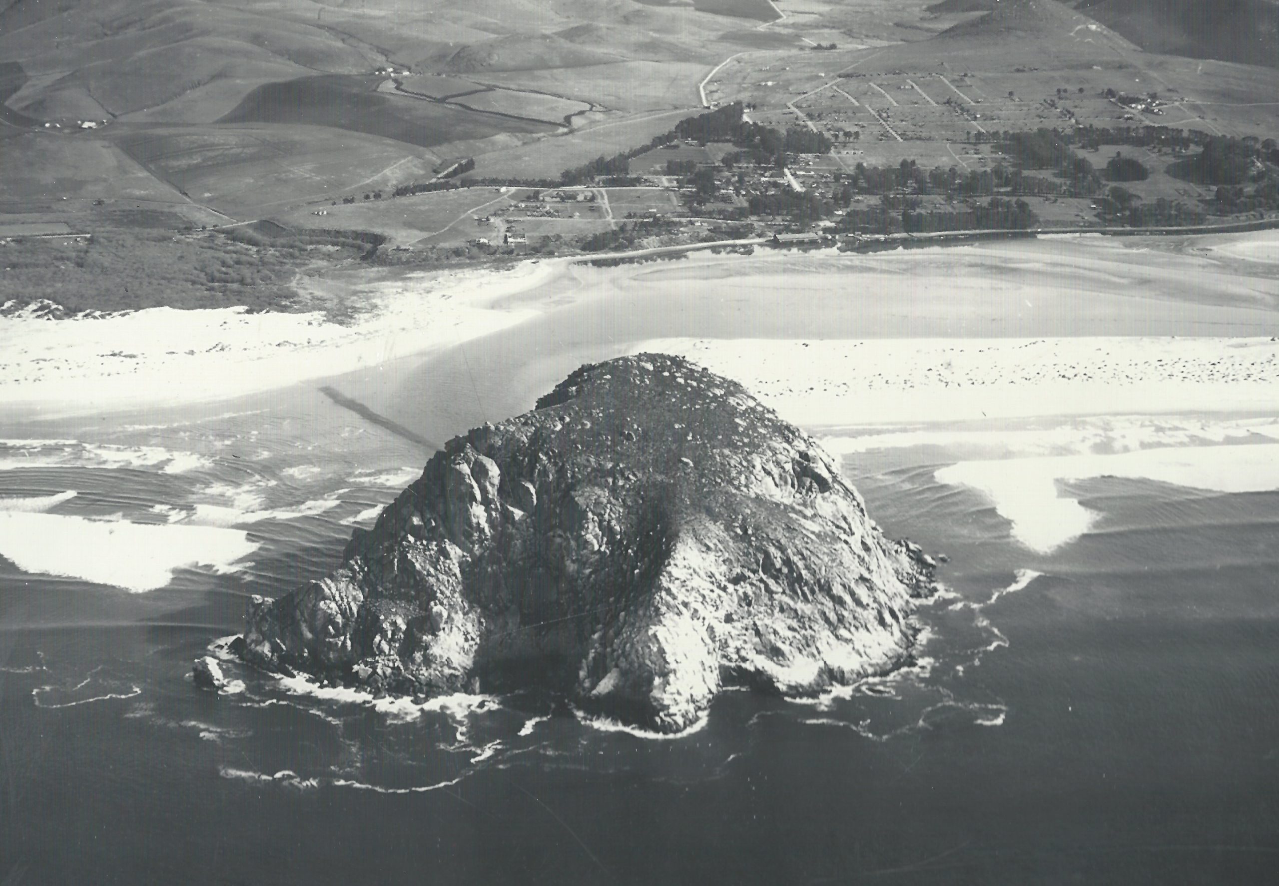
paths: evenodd
<path fill-rule="evenodd" d="M 391 693 L 537 685 L 670 733 L 725 685 L 894 666 L 930 571 L 741 385 L 640 354 L 451 440 L 330 577 L 253 597 L 244 656 Z"/>

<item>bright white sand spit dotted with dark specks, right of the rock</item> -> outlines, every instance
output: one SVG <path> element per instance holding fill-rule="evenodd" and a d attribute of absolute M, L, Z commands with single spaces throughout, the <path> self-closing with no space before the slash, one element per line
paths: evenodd
<path fill-rule="evenodd" d="M 803 427 L 1273 412 L 1279 341 L 1056 338 L 645 341 L 737 378 Z"/>

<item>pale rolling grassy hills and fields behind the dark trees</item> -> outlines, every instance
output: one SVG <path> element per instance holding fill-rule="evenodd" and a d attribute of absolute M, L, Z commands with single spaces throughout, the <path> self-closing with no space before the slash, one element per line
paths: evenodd
<path fill-rule="evenodd" d="M 700 87 L 709 104 L 746 102 L 751 120 L 830 137 L 833 155 L 796 162 L 801 179 L 858 162 L 961 173 L 1008 164 L 994 144 L 976 144 L 990 132 L 1151 124 L 1264 138 L 1279 129 L 1279 72 L 1142 52 L 1074 9 L 1087 5 L 19 0 L 0 12 L 0 207 L 75 230 L 294 210 L 317 226 L 347 226 L 310 216 L 325 208 L 396 242 L 448 240 L 458 226 L 432 234 L 448 210 L 417 217 L 363 196 L 427 182 L 446 159 L 475 157 L 476 176 L 558 179 L 669 132 L 701 110 Z M 984 18 L 985 6 L 994 12 Z M 412 68 L 395 77 L 421 95 L 372 73 L 386 66 Z M 1120 107 L 1108 89 L 1155 92 L 1161 113 Z M 67 118 L 67 129 L 31 132 L 38 123 L 22 114 Z M 68 132 L 78 119 L 107 125 Z M 1143 201 L 1211 197 L 1168 176 L 1172 157 L 1133 153 L 1151 170 L 1129 185 Z M 631 171 L 663 175 L 668 160 L 721 156 L 655 151 Z M 1102 166 L 1109 156 L 1087 159 Z M 430 199 L 443 207 L 453 197 Z M 1050 201 L 1044 210 L 1045 220 L 1081 212 Z M 375 224 L 382 212 L 391 217 Z M 586 221 L 599 224 L 538 224 Z"/>

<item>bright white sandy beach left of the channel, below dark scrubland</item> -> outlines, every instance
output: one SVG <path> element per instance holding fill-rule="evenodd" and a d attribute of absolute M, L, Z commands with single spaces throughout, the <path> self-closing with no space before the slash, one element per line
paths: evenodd
<path fill-rule="evenodd" d="M 322 313 L 147 308 L 70 320 L 0 318 L 0 405 L 49 414 L 229 399 L 425 353 L 537 313 L 496 302 L 559 272 L 416 274 L 373 283 L 350 323 Z"/>

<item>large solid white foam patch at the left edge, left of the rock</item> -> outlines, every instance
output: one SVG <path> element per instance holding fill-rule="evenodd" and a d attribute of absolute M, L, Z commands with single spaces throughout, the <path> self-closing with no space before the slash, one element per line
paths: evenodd
<path fill-rule="evenodd" d="M 0 511 L 0 556 L 18 569 L 132 593 L 162 588 L 183 568 L 235 571 L 257 547 L 239 529 Z"/>

